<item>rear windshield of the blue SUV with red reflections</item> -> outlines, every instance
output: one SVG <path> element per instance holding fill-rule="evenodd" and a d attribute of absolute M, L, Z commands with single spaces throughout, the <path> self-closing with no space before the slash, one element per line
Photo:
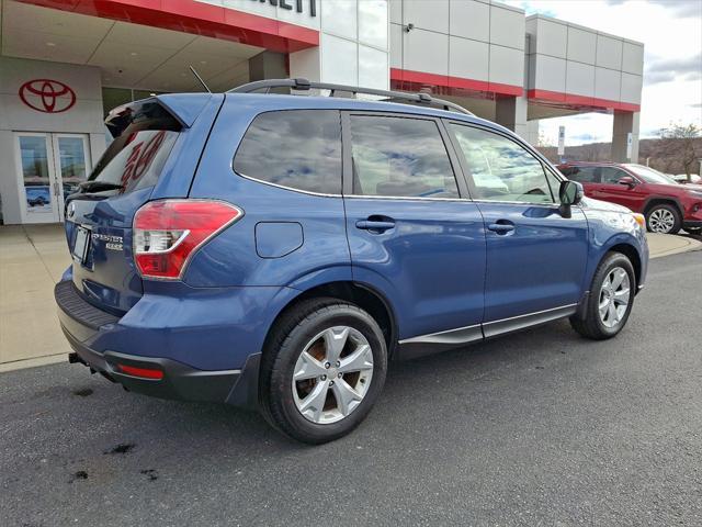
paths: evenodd
<path fill-rule="evenodd" d="M 118 186 L 120 193 L 156 184 L 182 125 L 156 101 L 126 106 L 106 125 L 116 136 L 88 181 Z"/>

